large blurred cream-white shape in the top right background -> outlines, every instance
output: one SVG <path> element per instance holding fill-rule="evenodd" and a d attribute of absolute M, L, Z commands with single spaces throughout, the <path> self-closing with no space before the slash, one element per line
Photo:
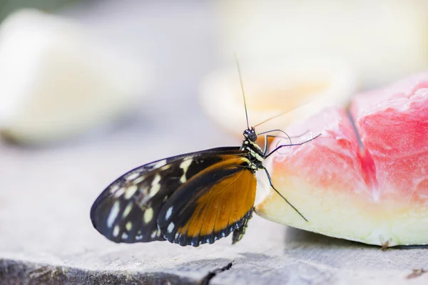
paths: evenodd
<path fill-rule="evenodd" d="M 366 87 L 428 68 L 427 0 L 219 3 L 225 58 L 342 56 Z"/>

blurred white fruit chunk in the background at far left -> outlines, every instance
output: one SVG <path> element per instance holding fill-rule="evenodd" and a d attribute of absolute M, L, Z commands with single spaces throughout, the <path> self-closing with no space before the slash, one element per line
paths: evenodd
<path fill-rule="evenodd" d="M 82 26 L 21 10 L 0 26 L 0 130 L 24 143 L 71 138 L 132 111 L 148 74 Z"/>

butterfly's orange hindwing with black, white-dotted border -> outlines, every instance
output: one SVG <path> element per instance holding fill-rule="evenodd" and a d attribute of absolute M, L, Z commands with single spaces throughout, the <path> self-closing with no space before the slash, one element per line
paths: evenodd
<path fill-rule="evenodd" d="M 250 219 L 257 180 L 246 157 L 222 160 L 190 177 L 165 202 L 158 227 L 182 246 L 227 237 Z"/>

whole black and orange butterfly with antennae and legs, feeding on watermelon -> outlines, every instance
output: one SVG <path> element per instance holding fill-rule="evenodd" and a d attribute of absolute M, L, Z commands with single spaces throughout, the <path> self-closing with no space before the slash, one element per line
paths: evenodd
<path fill-rule="evenodd" d="M 240 76 L 239 65 L 238 73 Z M 243 87 L 241 76 L 240 83 Z M 258 135 L 281 130 L 257 134 L 248 125 L 244 92 L 243 98 L 247 129 L 241 147 L 190 152 L 126 172 L 93 203 L 93 227 L 113 242 L 168 240 L 198 247 L 233 232 L 234 244 L 245 234 L 253 214 L 257 170 L 266 172 L 270 186 L 300 214 L 272 185 L 263 160 L 281 147 L 302 145 L 317 137 L 277 145 L 267 152 L 267 138 L 273 136 L 265 135 L 262 150 L 255 143 Z"/>

